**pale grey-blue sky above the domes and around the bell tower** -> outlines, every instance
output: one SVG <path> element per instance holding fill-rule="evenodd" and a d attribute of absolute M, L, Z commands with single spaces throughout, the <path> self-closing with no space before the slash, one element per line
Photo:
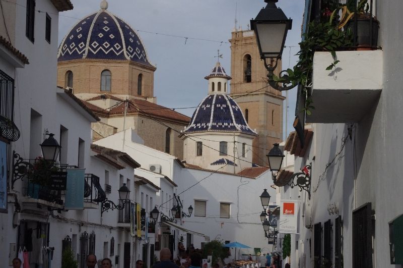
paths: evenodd
<path fill-rule="evenodd" d="M 74 9 L 60 13 L 59 43 L 65 34 L 85 16 L 100 8 L 101 0 L 71 0 Z M 220 62 L 230 74 L 229 39 L 235 28 L 246 30 L 255 18 L 263 0 L 107 0 L 108 11 L 123 19 L 143 41 L 149 61 L 157 67 L 154 73 L 154 96 L 157 103 L 191 117 L 194 108 L 208 93 L 210 74 L 217 62 L 217 50 L 223 54 Z M 292 68 L 301 40 L 304 0 L 279 0 L 287 17 L 293 19 L 283 51 L 283 70 Z M 187 37 L 187 38 L 186 38 Z M 293 131 L 296 88 L 289 90 L 288 108 L 284 101 L 284 139 Z M 286 96 L 286 93 L 283 92 Z"/>

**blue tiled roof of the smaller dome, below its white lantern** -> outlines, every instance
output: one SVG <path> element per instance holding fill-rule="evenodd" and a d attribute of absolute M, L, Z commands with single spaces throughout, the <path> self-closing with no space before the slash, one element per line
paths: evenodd
<path fill-rule="evenodd" d="M 200 102 L 183 133 L 218 131 L 257 136 L 243 117 L 238 104 L 226 94 L 211 94 Z"/>

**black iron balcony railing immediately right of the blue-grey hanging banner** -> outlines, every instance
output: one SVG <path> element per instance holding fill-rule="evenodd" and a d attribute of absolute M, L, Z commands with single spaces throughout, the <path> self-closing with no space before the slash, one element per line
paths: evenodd
<path fill-rule="evenodd" d="M 84 208 L 97 209 L 98 203 L 106 199 L 105 191 L 99 183 L 99 177 L 85 174 L 84 177 Z"/>

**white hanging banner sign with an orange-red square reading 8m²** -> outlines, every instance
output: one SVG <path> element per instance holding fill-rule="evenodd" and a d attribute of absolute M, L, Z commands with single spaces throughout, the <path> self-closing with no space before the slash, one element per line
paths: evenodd
<path fill-rule="evenodd" d="M 279 232 L 285 234 L 298 234 L 297 216 L 298 200 L 281 200 Z"/>

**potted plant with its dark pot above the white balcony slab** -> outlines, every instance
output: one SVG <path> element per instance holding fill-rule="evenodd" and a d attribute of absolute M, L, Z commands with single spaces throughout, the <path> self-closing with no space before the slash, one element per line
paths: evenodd
<path fill-rule="evenodd" d="M 360 48 L 371 49 L 378 45 L 379 21 L 369 12 L 368 0 L 349 0 L 347 10 L 353 11 L 346 24 L 346 29 L 355 33 L 354 44 Z"/>

